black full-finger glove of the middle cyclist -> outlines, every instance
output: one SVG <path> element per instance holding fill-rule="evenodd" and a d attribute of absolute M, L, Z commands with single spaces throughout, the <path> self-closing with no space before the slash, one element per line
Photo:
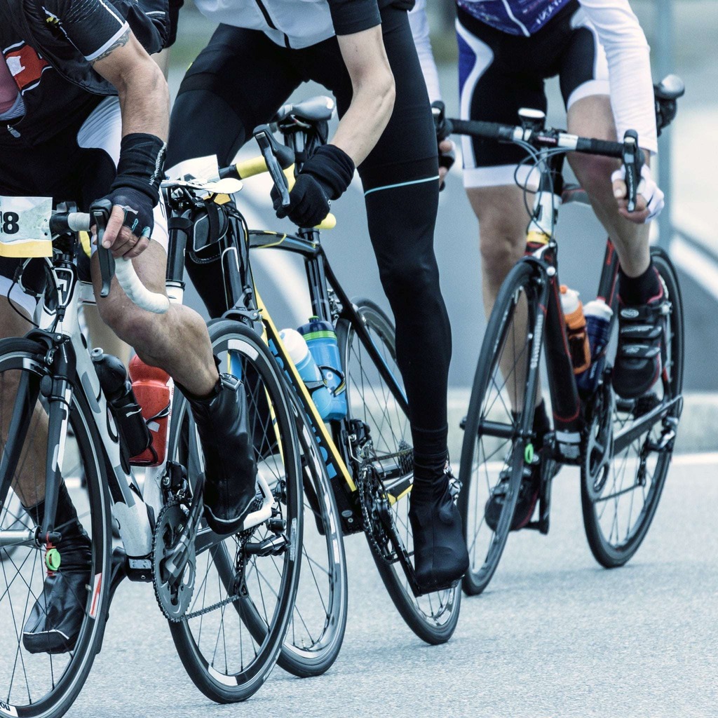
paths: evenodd
<path fill-rule="evenodd" d="M 299 227 L 314 227 L 328 214 L 331 200 L 344 194 L 354 177 L 354 162 L 334 144 L 322 145 L 304 162 L 289 192 L 289 207 L 281 206 L 276 187 L 271 197 L 277 217 L 289 217 Z"/>

